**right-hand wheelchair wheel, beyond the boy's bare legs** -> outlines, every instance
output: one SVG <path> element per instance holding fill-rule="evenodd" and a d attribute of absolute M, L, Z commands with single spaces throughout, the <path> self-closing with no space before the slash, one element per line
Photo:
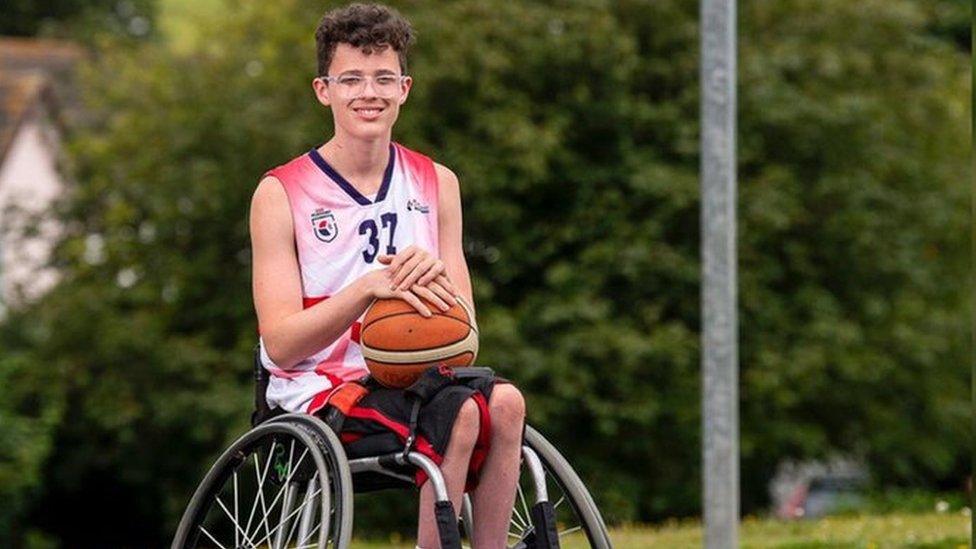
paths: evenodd
<path fill-rule="evenodd" d="M 612 547 L 603 517 L 579 475 L 562 454 L 538 431 L 525 426 L 525 446 L 538 456 L 545 472 L 548 501 L 555 515 L 556 537 L 564 546 L 587 546 L 595 549 Z M 508 546 L 513 549 L 531 549 L 540 545 L 532 520 L 532 508 L 536 503 L 535 479 L 529 467 L 523 463 L 515 494 L 515 508 L 509 523 Z M 469 534 L 472 520 L 470 500 L 462 503 L 461 522 Z M 474 520 L 477 520 L 476 518 Z"/>

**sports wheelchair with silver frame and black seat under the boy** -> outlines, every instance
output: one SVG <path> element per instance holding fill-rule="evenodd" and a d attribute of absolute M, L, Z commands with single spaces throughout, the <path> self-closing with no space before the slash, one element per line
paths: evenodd
<path fill-rule="evenodd" d="M 464 495 L 455 518 L 444 478 L 427 456 L 400 451 L 347 459 L 337 434 L 318 417 L 268 408 L 268 372 L 257 356 L 254 374 L 254 427 L 217 458 L 197 487 L 173 549 L 345 549 L 352 538 L 354 492 L 415 488 L 417 470 L 432 483 L 441 547 L 468 547 L 476 520 L 470 498 Z M 612 547 L 579 476 L 526 425 L 507 544 L 553 549 L 564 537 L 577 538 L 576 545 Z"/>

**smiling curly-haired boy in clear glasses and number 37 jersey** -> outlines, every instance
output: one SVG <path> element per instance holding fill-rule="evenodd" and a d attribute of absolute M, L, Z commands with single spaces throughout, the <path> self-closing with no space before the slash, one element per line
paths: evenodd
<path fill-rule="evenodd" d="M 457 176 L 391 140 L 413 84 L 410 24 L 385 6 L 353 4 L 327 13 L 315 38 L 312 87 L 334 133 L 265 174 L 250 219 L 267 400 L 311 414 L 367 373 L 359 320 L 374 299 L 403 299 L 424 316 L 428 303 L 474 303 Z M 402 449 L 410 408 L 404 391 L 373 388 L 343 423 L 349 455 L 383 440 Z M 451 384 L 420 408 L 414 450 L 439 464 L 455 510 L 471 491 L 479 549 L 505 547 L 524 415 L 519 391 L 492 379 Z M 417 544 L 438 547 L 424 480 Z"/>

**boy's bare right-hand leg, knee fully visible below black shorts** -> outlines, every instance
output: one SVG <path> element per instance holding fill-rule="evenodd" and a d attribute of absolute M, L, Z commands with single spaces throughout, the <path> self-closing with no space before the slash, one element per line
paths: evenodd
<path fill-rule="evenodd" d="M 478 488 L 471 495 L 471 545 L 476 549 L 504 549 L 519 477 L 525 400 L 514 386 L 499 384 L 492 390 L 488 410 L 491 450 L 482 466 Z"/>

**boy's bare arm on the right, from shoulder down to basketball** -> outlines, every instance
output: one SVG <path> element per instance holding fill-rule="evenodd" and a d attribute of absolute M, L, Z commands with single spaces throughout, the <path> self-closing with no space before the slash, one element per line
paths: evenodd
<path fill-rule="evenodd" d="M 471 275 L 461 239 L 461 186 L 457 176 L 448 168 L 435 163 L 434 170 L 438 181 L 437 231 L 441 261 L 444 262 L 447 277 L 473 310 Z"/>

